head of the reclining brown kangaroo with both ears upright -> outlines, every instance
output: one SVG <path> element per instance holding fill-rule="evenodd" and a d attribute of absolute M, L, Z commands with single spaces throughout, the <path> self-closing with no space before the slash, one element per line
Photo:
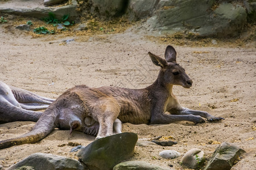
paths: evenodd
<path fill-rule="evenodd" d="M 164 54 L 164 58 L 158 57 L 155 54 L 148 52 L 151 57 L 152 62 L 156 66 L 160 66 L 160 72 L 158 79 L 160 83 L 163 85 L 180 85 L 184 88 L 189 88 L 192 86 L 192 80 L 185 73 L 183 67 L 181 67 L 176 62 L 176 51 L 174 47 L 168 45 L 166 48 L 166 52 Z"/>

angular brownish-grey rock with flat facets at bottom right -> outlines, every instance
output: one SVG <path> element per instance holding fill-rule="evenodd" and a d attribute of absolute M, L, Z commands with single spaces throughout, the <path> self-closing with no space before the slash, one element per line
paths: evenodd
<path fill-rule="evenodd" d="M 204 170 L 228 170 L 231 169 L 235 160 L 244 150 L 233 145 L 232 143 L 224 142 L 216 148 Z"/>

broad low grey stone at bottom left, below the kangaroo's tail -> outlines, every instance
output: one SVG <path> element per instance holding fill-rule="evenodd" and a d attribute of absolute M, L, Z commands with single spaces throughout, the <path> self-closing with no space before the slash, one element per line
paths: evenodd
<path fill-rule="evenodd" d="M 46 169 L 84 169 L 77 160 L 64 158 L 52 154 L 35 153 L 22 161 L 9 167 L 8 170 L 21 168 L 23 166 L 32 167 L 38 170 Z"/>

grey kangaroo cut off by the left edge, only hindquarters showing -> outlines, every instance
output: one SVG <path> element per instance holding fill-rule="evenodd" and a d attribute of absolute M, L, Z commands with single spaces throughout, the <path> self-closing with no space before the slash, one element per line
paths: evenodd
<path fill-rule="evenodd" d="M 0 81 L 0 122 L 36 122 L 43 112 L 34 111 L 46 109 L 53 101 Z"/>

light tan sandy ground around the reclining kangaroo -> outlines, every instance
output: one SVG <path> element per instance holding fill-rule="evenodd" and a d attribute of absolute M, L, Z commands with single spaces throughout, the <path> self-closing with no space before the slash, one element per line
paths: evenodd
<path fill-rule="evenodd" d="M 81 37 L 47 35 L 32 39 L 22 31 L 8 31 L 0 25 L 0 80 L 36 94 L 56 99 L 77 84 L 90 87 L 119 86 L 144 88 L 158 75 L 147 52 L 163 57 L 168 44 L 158 44 L 142 35 L 125 33 Z M 68 44 L 63 40 L 74 39 Z M 193 79 L 190 89 L 174 87 L 181 105 L 208 111 L 224 117 L 221 122 L 177 122 L 169 125 L 123 124 L 123 131 L 137 133 L 139 138 L 173 136 L 178 144 L 136 146 L 131 160 L 144 160 L 162 167 L 186 169 L 181 157 L 167 160 L 158 156 L 162 150 L 185 154 L 200 148 L 208 159 L 218 144 L 231 142 L 246 151 L 232 169 L 256 167 L 256 61 L 255 48 L 203 48 L 175 46 L 177 62 Z M 0 125 L 0 140 L 18 137 L 35 125 L 34 122 L 11 122 Z M 34 144 L 0 150 L 0 164 L 10 167 L 35 152 L 50 153 L 77 159 L 68 142 L 88 145 L 95 137 L 80 132 L 54 130 Z M 212 144 L 209 144 L 213 142 Z"/>

